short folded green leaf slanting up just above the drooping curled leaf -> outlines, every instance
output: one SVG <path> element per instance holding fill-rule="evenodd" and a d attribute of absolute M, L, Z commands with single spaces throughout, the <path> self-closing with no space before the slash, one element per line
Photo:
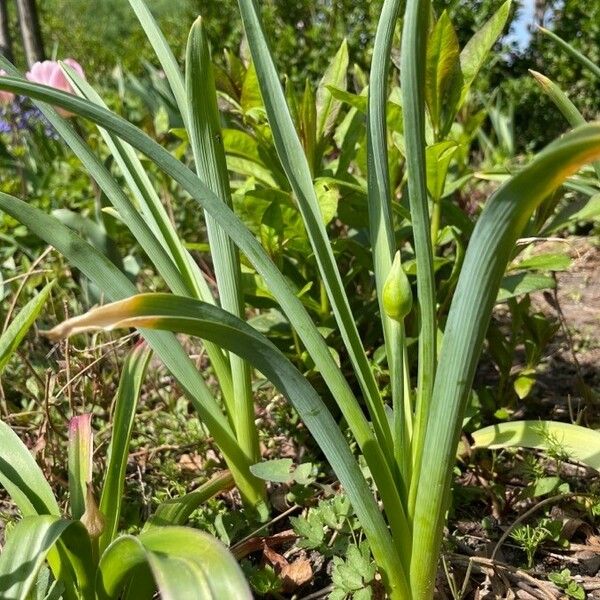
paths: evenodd
<path fill-rule="evenodd" d="M 165 525 L 185 525 L 189 516 L 199 506 L 202 506 L 202 504 L 219 492 L 232 488 L 233 485 L 233 477 L 229 471 L 217 473 L 217 475 L 211 477 L 193 492 L 159 504 L 154 514 L 150 517 L 150 520 L 144 526 L 144 530 L 149 527 Z"/>

